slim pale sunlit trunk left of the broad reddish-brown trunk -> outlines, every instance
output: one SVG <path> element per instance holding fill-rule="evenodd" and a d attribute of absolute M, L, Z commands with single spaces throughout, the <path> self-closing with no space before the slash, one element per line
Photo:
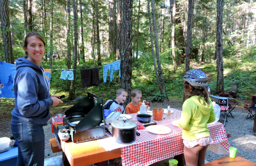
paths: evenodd
<path fill-rule="evenodd" d="M 174 0 L 174 6 L 172 7 L 172 27 L 171 27 L 171 53 L 174 69 L 177 68 L 176 55 L 175 55 L 175 45 L 174 45 L 174 36 L 175 36 L 175 14 L 176 14 L 176 0 Z"/>

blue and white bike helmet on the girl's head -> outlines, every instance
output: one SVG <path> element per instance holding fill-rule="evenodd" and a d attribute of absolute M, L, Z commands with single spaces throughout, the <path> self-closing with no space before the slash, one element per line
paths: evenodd
<path fill-rule="evenodd" d="M 196 89 L 202 89 L 208 84 L 208 77 L 201 70 L 192 69 L 185 73 L 184 80 Z"/>

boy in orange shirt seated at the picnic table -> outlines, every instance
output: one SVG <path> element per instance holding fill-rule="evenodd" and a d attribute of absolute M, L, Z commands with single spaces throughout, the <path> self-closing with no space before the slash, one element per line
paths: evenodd
<path fill-rule="evenodd" d="M 130 113 L 137 113 L 139 111 L 140 106 L 142 105 L 141 101 L 141 91 L 139 89 L 133 89 L 131 92 L 131 99 L 132 102 L 130 102 L 126 108 L 125 108 L 125 114 Z M 147 110 L 150 110 L 150 106 L 147 105 Z"/>

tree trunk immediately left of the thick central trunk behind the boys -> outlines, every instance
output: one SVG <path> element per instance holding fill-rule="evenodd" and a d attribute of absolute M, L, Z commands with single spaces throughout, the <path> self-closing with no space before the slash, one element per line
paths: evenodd
<path fill-rule="evenodd" d="M 122 0 L 118 0 L 117 2 L 117 58 L 119 60 L 121 57 L 121 42 L 122 42 Z"/>

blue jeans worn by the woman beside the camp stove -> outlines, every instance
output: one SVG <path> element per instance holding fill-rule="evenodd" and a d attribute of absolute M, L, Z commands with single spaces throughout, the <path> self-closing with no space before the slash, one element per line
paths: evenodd
<path fill-rule="evenodd" d="M 11 120 L 11 133 L 18 142 L 16 166 L 43 166 L 43 126 L 35 125 L 13 117 Z"/>

